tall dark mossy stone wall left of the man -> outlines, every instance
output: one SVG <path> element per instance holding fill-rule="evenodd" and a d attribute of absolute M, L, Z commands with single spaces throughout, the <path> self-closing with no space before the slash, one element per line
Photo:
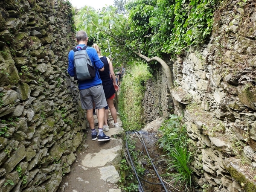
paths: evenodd
<path fill-rule="evenodd" d="M 0 191 L 55 192 L 86 128 L 66 72 L 72 9 L 1 0 L 0 13 Z"/>

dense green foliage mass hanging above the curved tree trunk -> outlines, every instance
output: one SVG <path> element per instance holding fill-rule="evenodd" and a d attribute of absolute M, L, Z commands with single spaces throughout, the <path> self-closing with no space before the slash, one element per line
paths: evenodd
<path fill-rule="evenodd" d="M 202 44 L 212 32 L 219 0 L 136 0 L 128 3 L 134 41 L 144 54 L 180 54 Z"/>

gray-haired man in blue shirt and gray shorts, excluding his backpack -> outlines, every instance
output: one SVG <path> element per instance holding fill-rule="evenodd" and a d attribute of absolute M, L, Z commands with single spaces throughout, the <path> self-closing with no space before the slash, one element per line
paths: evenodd
<path fill-rule="evenodd" d="M 87 45 L 88 36 L 84 31 L 79 31 L 76 33 L 76 41 L 78 45 L 76 49 L 81 50 L 84 46 Z M 98 141 L 108 141 L 110 137 L 106 136 L 103 133 L 103 123 L 104 123 L 104 107 L 107 106 L 104 90 L 102 87 L 102 80 L 99 77 L 99 72 L 104 71 L 104 64 L 100 60 L 96 50 L 92 47 L 87 47 L 87 54 L 90 57 L 90 60 L 93 66 L 96 68 L 96 76 L 93 79 L 87 79 L 84 81 L 78 81 L 78 87 L 80 92 L 81 107 L 87 110 L 87 120 L 90 124 L 90 129 L 92 131 L 92 140 Z M 71 50 L 68 54 L 68 69 L 67 72 L 71 77 L 75 76 L 74 71 L 74 51 Z M 93 102 L 95 102 L 98 112 L 98 122 L 99 122 L 99 134 L 94 128 L 94 119 L 93 119 Z"/>

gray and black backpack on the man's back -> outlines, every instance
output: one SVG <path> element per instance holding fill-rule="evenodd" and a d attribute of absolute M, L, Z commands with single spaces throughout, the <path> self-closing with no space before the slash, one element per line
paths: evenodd
<path fill-rule="evenodd" d="M 88 46 L 84 46 L 83 49 L 73 49 L 74 53 L 74 71 L 75 80 L 84 81 L 86 79 L 92 79 L 96 75 L 96 70 L 86 52 Z"/>

